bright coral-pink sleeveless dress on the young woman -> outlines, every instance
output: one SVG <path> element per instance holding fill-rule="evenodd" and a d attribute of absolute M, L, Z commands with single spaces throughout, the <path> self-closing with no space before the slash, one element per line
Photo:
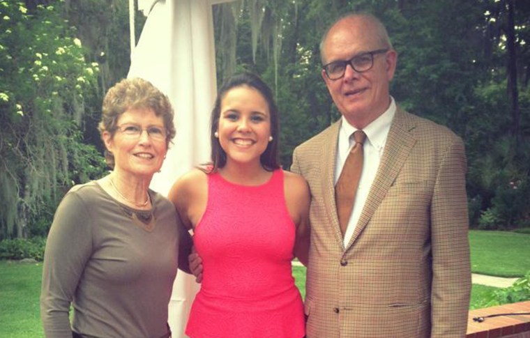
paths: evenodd
<path fill-rule="evenodd" d="M 291 270 L 295 233 L 281 169 L 252 187 L 209 174 L 206 211 L 194 235 L 204 274 L 185 334 L 304 337 L 303 303 Z"/>

